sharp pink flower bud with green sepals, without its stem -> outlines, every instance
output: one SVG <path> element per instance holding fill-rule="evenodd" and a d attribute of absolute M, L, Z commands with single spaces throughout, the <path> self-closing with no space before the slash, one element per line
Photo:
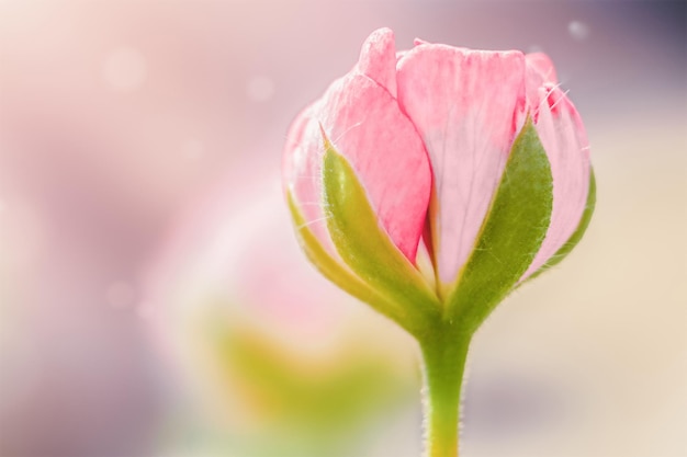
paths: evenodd
<path fill-rule="evenodd" d="M 388 28 L 296 117 L 283 181 L 311 261 L 415 335 L 435 315 L 474 331 L 572 250 L 595 202 L 545 55 L 396 53 Z"/>

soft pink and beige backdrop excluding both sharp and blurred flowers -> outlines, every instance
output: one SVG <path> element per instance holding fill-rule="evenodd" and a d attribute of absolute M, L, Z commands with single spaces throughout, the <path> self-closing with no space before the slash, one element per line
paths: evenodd
<path fill-rule="evenodd" d="M 685 24 L 682 2 L 0 2 L 0 454 L 156 455 L 176 396 L 148 264 L 227 169 L 277 173 L 292 117 L 391 26 L 549 53 L 597 174 L 578 250 L 474 343 L 465 455 L 686 455 Z M 550 397 L 567 422 L 508 419 Z"/>

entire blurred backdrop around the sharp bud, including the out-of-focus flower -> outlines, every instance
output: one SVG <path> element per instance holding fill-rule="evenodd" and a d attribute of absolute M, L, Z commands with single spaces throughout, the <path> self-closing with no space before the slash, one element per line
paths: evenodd
<path fill-rule="evenodd" d="M 543 50 L 587 236 L 476 335 L 462 452 L 687 455 L 684 2 L 0 2 L 0 456 L 412 457 L 417 349 L 295 247 L 295 114 L 370 32 Z"/>

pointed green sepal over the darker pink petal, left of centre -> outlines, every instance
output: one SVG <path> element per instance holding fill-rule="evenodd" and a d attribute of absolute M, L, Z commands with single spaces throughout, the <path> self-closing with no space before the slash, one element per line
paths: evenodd
<path fill-rule="evenodd" d="M 365 284 L 403 307 L 404 328 L 426 331 L 441 308 L 433 289 L 380 227 L 352 167 L 324 141 L 324 207 L 337 251 Z"/>

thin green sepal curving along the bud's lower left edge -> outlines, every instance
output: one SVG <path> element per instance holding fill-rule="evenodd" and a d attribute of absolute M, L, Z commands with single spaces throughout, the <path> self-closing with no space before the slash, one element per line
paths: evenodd
<path fill-rule="evenodd" d="M 288 193 L 286 198 L 289 201 L 289 209 L 291 209 L 299 243 L 311 263 L 313 263 L 327 279 L 409 331 L 409 319 L 405 310 L 401 306 L 382 297 L 369 285 L 360 281 L 360 278 L 352 274 L 345 265 L 341 265 L 329 255 L 319 240 L 317 240 L 317 237 L 315 237 L 315 233 L 308 228 L 291 192 Z"/>

